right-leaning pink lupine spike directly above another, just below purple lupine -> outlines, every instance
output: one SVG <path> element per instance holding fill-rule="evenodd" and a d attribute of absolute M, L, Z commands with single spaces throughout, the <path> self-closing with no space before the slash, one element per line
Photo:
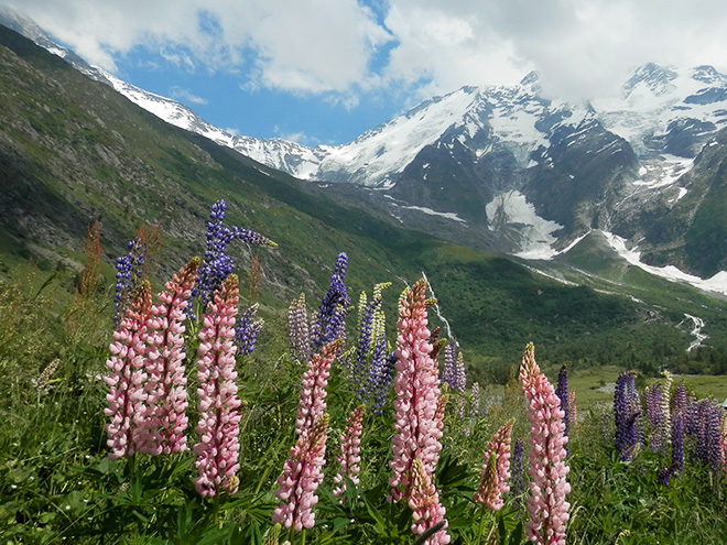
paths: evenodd
<path fill-rule="evenodd" d="M 308 369 L 301 378 L 301 397 L 295 418 L 295 435 L 300 436 L 317 421 L 326 410 L 326 388 L 330 375 L 330 364 L 336 359 L 343 339 L 328 342 L 319 353 L 308 361 Z"/>

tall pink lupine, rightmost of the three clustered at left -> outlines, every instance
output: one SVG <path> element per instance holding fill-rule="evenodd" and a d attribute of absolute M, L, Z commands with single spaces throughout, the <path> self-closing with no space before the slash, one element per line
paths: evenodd
<path fill-rule="evenodd" d="M 220 490 L 237 491 L 240 445 L 240 399 L 237 396 L 235 370 L 235 315 L 239 301 L 238 280 L 231 274 L 225 280 L 202 317 L 198 337 L 197 382 L 199 388 L 199 442 L 195 479 L 197 492 L 213 497 Z"/>

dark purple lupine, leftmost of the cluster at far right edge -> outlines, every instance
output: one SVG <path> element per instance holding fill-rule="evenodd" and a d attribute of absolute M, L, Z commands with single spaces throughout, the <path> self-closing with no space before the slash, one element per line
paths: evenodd
<path fill-rule="evenodd" d="M 633 371 L 626 371 L 616 380 L 614 418 L 619 459 L 621 461 L 631 460 L 642 440 L 641 400 L 636 389 Z"/>

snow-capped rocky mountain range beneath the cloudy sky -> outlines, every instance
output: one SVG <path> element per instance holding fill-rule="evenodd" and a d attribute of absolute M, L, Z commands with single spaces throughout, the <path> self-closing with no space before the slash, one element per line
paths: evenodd
<path fill-rule="evenodd" d="M 651 273 L 727 293 L 727 76 L 710 66 L 648 64 L 620 96 L 582 103 L 545 98 L 532 73 L 425 101 L 348 144 L 307 148 L 229 134 L 3 17 L 161 119 L 382 218 L 533 266 L 567 263 L 603 233 Z"/>

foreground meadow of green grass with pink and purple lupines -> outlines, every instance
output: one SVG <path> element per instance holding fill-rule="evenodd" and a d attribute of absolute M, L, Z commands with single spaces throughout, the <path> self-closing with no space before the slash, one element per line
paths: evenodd
<path fill-rule="evenodd" d="M 724 543 L 716 401 L 623 370 L 579 407 L 538 339 L 493 394 L 425 276 L 351 294 L 345 251 L 265 324 L 229 249 L 275 243 L 225 211 L 158 286 L 140 236 L 104 290 L 97 229 L 73 296 L 0 283 L 1 543 Z"/>

